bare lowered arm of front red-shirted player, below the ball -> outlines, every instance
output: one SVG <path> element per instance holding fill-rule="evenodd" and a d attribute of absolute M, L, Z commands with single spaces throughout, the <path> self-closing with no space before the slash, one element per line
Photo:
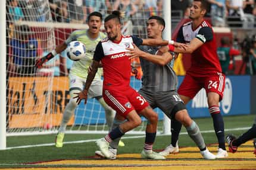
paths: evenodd
<path fill-rule="evenodd" d="M 88 76 L 86 78 L 86 82 L 85 82 L 85 88 L 83 89 L 82 92 L 79 92 L 79 93 L 75 93 L 77 94 L 76 97 L 74 98 L 77 98 L 77 104 L 80 104 L 80 102 L 84 99 L 85 100 L 85 104 L 87 102 L 87 95 L 88 95 L 88 90 L 90 88 L 90 84 L 92 84 L 92 81 L 96 75 L 96 72 L 98 70 L 98 67 L 99 67 L 99 62 L 95 61 L 95 60 L 92 60 L 92 65 L 90 66 L 90 70 L 88 72 Z"/>

